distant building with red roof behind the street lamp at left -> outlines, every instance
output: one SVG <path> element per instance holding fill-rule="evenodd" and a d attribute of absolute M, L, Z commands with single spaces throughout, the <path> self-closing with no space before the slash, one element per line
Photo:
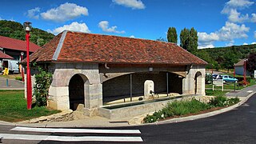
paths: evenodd
<path fill-rule="evenodd" d="M 40 46 L 30 42 L 30 54 L 39 48 Z M 24 53 L 23 58 L 26 58 L 26 41 L 0 36 L 0 72 L 3 70 L 3 60 L 20 61 L 22 52 Z"/>

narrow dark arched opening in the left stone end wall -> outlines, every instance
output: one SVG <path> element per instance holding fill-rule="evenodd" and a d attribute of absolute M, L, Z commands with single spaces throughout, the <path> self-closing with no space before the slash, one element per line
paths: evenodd
<path fill-rule="evenodd" d="M 84 75 L 74 74 L 69 83 L 70 109 L 77 110 L 78 105 L 85 105 L 88 79 Z"/>

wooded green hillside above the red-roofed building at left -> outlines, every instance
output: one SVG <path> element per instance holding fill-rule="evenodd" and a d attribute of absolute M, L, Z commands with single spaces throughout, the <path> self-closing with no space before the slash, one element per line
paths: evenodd
<path fill-rule="evenodd" d="M 25 30 L 19 22 L 0 20 L 0 35 L 25 40 Z M 52 38 L 54 38 L 54 34 L 50 34 L 38 28 L 32 28 L 30 32 L 30 41 L 38 46 L 43 46 Z"/>

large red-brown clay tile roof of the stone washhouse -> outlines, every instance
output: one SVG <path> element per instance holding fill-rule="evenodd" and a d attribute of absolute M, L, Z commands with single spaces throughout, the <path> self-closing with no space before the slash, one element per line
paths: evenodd
<path fill-rule="evenodd" d="M 61 37 L 65 38 L 63 43 Z M 60 50 L 59 54 L 58 50 Z M 54 55 L 57 56 L 55 59 Z M 190 54 L 182 47 L 170 42 L 72 31 L 64 31 L 58 34 L 42 49 L 31 54 L 30 60 L 36 62 L 207 64 L 207 62 Z"/>

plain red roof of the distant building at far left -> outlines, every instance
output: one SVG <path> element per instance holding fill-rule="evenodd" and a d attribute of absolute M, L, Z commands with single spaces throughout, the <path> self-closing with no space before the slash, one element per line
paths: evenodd
<path fill-rule="evenodd" d="M 26 41 L 0 36 L 0 47 L 11 50 L 26 51 Z M 40 46 L 30 42 L 30 52 L 34 52 L 39 48 Z"/>

